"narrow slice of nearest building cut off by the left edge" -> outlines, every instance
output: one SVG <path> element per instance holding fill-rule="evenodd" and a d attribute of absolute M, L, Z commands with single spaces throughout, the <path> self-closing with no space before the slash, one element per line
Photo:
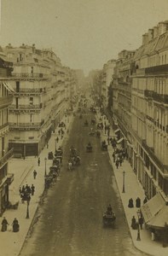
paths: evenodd
<path fill-rule="evenodd" d="M 9 105 L 14 92 L 10 85 L 12 62 L 8 60 L 0 47 L 0 216 L 9 203 L 9 184 L 14 175 L 9 173 L 9 158 L 13 155 L 13 149 L 9 149 Z"/>

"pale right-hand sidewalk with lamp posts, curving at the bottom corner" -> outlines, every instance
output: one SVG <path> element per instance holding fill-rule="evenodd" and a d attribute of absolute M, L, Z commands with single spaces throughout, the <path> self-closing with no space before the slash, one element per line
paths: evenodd
<path fill-rule="evenodd" d="M 98 114 L 98 119 L 100 119 L 99 114 Z M 107 122 L 107 119 L 106 119 L 106 122 Z M 111 137 L 114 136 L 113 130 L 110 131 L 110 136 Z M 107 135 L 104 134 L 104 131 L 102 131 L 101 140 L 107 141 Z M 130 227 L 130 224 L 131 224 L 131 218 L 133 215 L 137 220 L 138 208 L 135 207 L 136 198 L 137 196 L 139 196 L 141 201 L 143 202 L 145 198 L 144 190 L 142 189 L 141 183 L 138 182 L 136 178 L 136 174 L 133 172 L 130 166 L 130 163 L 127 160 L 124 160 L 124 163 L 122 163 L 122 166 L 119 166 L 119 168 L 117 169 L 117 167 L 115 166 L 115 163 L 113 162 L 113 151 L 114 151 L 113 147 L 109 145 L 108 154 L 113 166 L 113 172 L 116 178 L 116 182 L 118 184 L 119 194 L 123 202 L 123 207 L 125 209 L 125 216 L 130 228 L 130 235 L 134 243 L 134 246 L 140 251 L 144 253 L 148 253 L 149 255 L 167 256 L 168 247 L 162 247 L 162 243 L 159 241 L 152 241 L 150 232 L 148 230 L 145 230 L 144 226 L 143 226 L 143 229 L 140 230 L 141 241 L 136 240 L 137 230 L 132 230 L 132 228 Z M 125 171 L 125 193 L 123 193 L 123 172 L 124 171 Z M 128 201 L 130 198 L 132 198 L 134 201 L 133 208 L 128 207 Z"/>

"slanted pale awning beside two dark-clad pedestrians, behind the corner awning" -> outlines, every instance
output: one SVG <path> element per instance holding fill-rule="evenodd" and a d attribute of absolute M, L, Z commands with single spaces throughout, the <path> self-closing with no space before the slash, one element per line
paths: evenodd
<path fill-rule="evenodd" d="M 145 222 L 148 224 L 148 222 L 152 220 L 152 218 L 154 218 L 164 206 L 165 200 L 160 195 L 160 193 L 154 195 L 153 198 L 151 198 L 148 202 L 146 202 L 146 204 L 141 207 L 142 215 Z"/>

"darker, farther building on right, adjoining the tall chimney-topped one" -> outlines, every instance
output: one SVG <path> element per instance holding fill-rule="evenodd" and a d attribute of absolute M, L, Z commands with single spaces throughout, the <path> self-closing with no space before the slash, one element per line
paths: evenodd
<path fill-rule="evenodd" d="M 131 65 L 135 51 L 122 50 L 113 73 L 113 128 L 129 154 L 131 163 Z"/>

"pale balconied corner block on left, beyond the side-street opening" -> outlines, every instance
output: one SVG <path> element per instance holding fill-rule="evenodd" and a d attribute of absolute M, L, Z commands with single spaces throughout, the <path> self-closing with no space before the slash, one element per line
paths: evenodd
<path fill-rule="evenodd" d="M 15 157 L 38 155 L 69 108 L 76 90 L 74 73 L 61 65 L 52 49 L 9 44 L 4 51 L 14 63 L 9 148 L 14 148 Z"/>

